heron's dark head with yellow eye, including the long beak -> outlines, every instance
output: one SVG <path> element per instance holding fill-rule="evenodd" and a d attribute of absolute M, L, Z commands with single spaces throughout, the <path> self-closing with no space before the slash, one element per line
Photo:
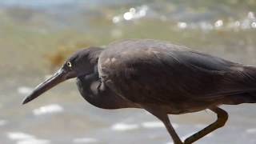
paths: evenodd
<path fill-rule="evenodd" d="M 101 51 L 102 48 L 90 47 L 78 50 L 72 54 L 59 70 L 50 78 L 47 78 L 44 82 L 36 86 L 32 93 L 23 100 L 22 104 L 26 104 L 34 98 L 38 98 L 42 93 L 67 79 L 94 73 L 94 68 L 98 63 L 98 55 Z"/>

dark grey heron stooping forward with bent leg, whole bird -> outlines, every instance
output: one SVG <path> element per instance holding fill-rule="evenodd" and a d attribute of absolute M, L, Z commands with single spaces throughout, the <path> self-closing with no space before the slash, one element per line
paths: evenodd
<path fill-rule="evenodd" d="M 161 120 L 175 144 L 192 143 L 225 125 L 218 106 L 256 102 L 256 67 L 244 66 L 151 39 L 113 42 L 78 50 L 23 104 L 58 83 L 77 78 L 82 97 L 103 109 L 142 108 Z M 178 137 L 168 114 L 212 110 L 218 119 L 198 133 Z"/>

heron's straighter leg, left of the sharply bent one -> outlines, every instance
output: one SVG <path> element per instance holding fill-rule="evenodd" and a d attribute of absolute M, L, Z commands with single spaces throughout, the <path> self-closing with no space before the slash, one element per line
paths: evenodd
<path fill-rule="evenodd" d="M 160 119 L 164 123 L 171 138 L 173 138 L 174 140 L 174 144 L 183 144 L 181 139 L 178 137 L 178 134 L 174 130 L 174 127 L 171 125 L 168 115 L 166 113 L 159 112 L 161 110 L 152 110 L 152 109 L 146 109 L 146 110 L 149 111 L 150 114 L 153 114 L 154 116 L 156 116 L 158 119 Z"/>

